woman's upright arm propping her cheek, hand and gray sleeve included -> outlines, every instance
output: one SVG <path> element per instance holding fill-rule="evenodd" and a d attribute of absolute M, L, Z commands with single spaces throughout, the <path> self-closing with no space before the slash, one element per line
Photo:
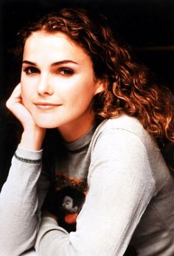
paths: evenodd
<path fill-rule="evenodd" d="M 0 253 L 18 256 L 35 243 L 39 204 L 44 200 L 49 181 L 44 173 L 40 176 L 40 149 L 45 131 L 35 125 L 24 107 L 20 84 L 7 101 L 7 108 L 21 122 L 24 132 L 0 195 Z"/>

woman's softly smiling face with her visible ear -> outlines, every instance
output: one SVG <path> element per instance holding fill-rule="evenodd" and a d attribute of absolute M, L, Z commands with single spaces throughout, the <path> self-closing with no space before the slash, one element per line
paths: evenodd
<path fill-rule="evenodd" d="M 33 32 L 24 45 L 21 97 L 41 128 L 58 128 L 67 142 L 94 123 L 91 103 L 102 91 L 91 58 L 62 32 Z"/>

